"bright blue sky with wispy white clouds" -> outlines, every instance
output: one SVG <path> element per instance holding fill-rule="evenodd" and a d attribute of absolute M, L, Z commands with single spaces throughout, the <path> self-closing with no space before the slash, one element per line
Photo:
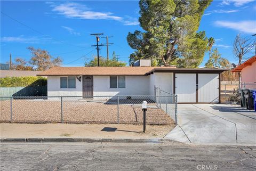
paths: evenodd
<path fill-rule="evenodd" d="M 92 33 L 103 32 L 109 38 L 109 54 L 128 63 L 133 52 L 127 44 L 129 31 L 141 30 L 138 1 L 1 1 L 1 63 L 12 58 L 30 59 L 28 46 L 60 56 L 63 66 L 84 66 L 97 51 Z M 9 17 L 7 17 L 6 15 Z M 11 18 L 12 19 L 11 19 Z M 15 21 L 14 21 L 15 20 Z M 256 1 L 213 1 L 205 10 L 199 30 L 214 37 L 223 58 L 237 63 L 233 41 L 237 34 L 256 34 Z M 106 43 L 100 38 L 100 43 Z M 100 55 L 106 56 L 106 46 Z M 251 53 L 250 55 L 253 55 Z M 201 66 L 209 59 L 205 53 Z"/>

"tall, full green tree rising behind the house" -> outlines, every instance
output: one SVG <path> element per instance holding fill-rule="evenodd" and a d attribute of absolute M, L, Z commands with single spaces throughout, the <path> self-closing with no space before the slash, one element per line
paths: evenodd
<path fill-rule="evenodd" d="M 151 59 L 170 66 L 196 68 L 203 61 L 207 38 L 199 22 L 212 0 L 141 0 L 140 26 L 145 31 L 129 32 L 127 42 L 135 50 L 130 65 Z"/>

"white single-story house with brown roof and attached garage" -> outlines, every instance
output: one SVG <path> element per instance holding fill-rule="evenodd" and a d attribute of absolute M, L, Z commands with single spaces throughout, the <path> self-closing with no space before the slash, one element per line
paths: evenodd
<path fill-rule="evenodd" d="M 218 103 L 219 75 L 225 70 L 55 67 L 38 76 L 47 76 L 48 96 L 155 95 L 154 86 L 159 86 L 166 92 L 178 94 L 180 103 Z"/>

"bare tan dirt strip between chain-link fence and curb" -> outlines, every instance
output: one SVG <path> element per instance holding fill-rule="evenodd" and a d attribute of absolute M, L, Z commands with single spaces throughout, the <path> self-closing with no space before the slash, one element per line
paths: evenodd
<path fill-rule="evenodd" d="M 75 138 L 75 139 L 154 139 L 162 138 L 174 125 L 127 124 L 0 124 L 1 139 Z"/>

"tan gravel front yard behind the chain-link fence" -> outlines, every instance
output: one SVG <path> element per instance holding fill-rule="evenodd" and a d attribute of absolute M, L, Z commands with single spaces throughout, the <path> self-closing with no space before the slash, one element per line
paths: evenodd
<path fill-rule="evenodd" d="M 10 100 L 0 101 L 0 121 L 10 121 Z M 139 104 L 119 104 L 119 123 L 142 124 L 143 111 Z M 155 104 L 148 104 L 147 124 L 169 125 L 174 121 Z M 63 122 L 65 123 L 117 123 L 117 104 L 97 100 L 63 101 Z M 12 100 L 12 121 L 14 123 L 60 123 L 61 102 L 58 100 Z"/>

